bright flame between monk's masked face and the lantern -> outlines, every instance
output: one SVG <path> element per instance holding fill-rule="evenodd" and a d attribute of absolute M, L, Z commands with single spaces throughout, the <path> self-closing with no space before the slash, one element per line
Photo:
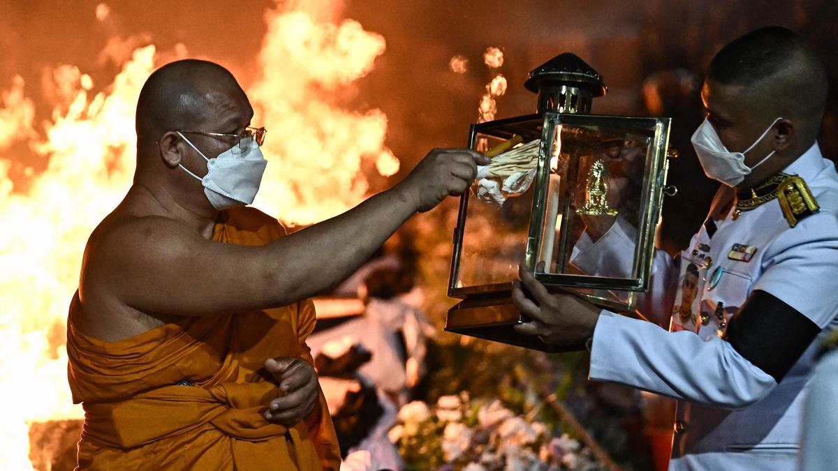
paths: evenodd
<path fill-rule="evenodd" d="M 261 75 L 250 90 L 268 129 L 263 150 L 270 162 L 257 206 L 286 222 L 310 224 L 364 198 L 365 159 L 374 159 L 384 176 L 398 171 L 384 145 L 387 116 L 331 104 L 337 91 L 372 70 L 384 49 L 384 38 L 353 20 L 323 22 L 304 11 L 269 15 Z"/>

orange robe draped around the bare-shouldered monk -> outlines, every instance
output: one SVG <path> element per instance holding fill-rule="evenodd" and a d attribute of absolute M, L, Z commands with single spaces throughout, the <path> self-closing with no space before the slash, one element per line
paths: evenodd
<path fill-rule="evenodd" d="M 283 235 L 276 220 L 241 208 L 220 214 L 213 241 L 258 246 Z M 80 469 L 339 468 L 322 391 L 315 410 L 294 427 L 263 416 L 279 394 L 266 379 L 263 362 L 272 357 L 312 362 L 305 344 L 315 323 L 310 300 L 183 318 L 110 343 L 74 329 L 79 308 L 76 293 L 67 353 L 73 401 L 85 409 Z"/>

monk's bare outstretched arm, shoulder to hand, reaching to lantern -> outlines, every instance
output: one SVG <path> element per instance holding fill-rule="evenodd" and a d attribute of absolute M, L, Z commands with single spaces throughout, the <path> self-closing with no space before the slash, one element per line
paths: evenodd
<path fill-rule="evenodd" d="M 336 286 L 416 211 L 468 189 L 482 154 L 438 149 L 406 179 L 354 209 L 266 246 L 207 241 L 149 216 L 88 246 L 82 287 L 147 312 L 205 315 L 287 305 Z"/>

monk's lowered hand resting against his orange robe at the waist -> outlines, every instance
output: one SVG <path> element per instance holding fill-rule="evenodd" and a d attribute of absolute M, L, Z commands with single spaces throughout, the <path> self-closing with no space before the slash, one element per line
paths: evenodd
<path fill-rule="evenodd" d="M 313 411 L 319 399 L 317 372 L 300 358 L 269 358 L 265 369 L 273 376 L 280 396 L 271 401 L 265 418 L 292 427 Z"/>

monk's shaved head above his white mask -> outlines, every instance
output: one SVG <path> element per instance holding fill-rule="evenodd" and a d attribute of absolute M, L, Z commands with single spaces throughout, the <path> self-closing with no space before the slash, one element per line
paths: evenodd
<path fill-rule="evenodd" d="M 148 77 L 137 102 L 138 153 L 146 153 L 165 132 L 212 127 L 220 108 L 236 105 L 249 107 L 245 92 L 224 67 L 193 59 L 163 65 Z"/>

